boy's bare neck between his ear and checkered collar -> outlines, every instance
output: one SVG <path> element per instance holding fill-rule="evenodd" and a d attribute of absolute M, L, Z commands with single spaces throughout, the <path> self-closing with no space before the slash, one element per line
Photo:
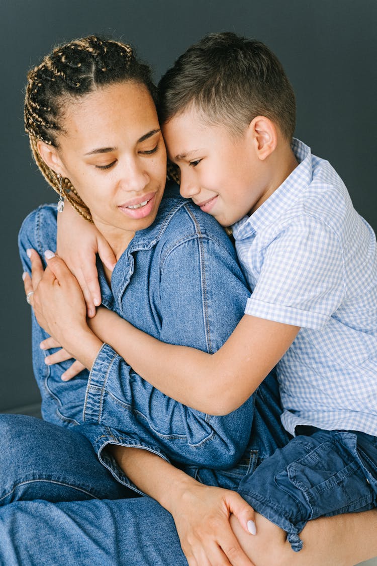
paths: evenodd
<path fill-rule="evenodd" d="M 263 193 L 261 198 L 255 203 L 254 207 L 250 211 L 252 215 L 267 199 L 270 198 L 272 194 L 284 183 L 285 179 L 289 177 L 294 169 L 296 169 L 298 162 L 296 156 L 294 155 L 291 144 L 281 144 L 280 147 L 276 147 L 275 151 L 268 156 L 268 162 L 266 166 L 272 171 L 270 183 L 268 184 L 267 190 Z"/>

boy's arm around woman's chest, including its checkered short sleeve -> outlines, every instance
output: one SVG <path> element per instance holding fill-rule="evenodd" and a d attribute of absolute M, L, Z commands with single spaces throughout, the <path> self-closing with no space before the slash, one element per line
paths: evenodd
<path fill-rule="evenodd" d="M 323 328 L 343 300 L 343 254 L 336 235 L 317 218 L 305 218 L 304 224 L 293 219 L 268 246 L 247 314 L 214 354 L 161 344 L 122 320 L 114 320 L 111 327 L 110 314 L 109 335 L 98 328 L 98 336 L 177 401 L 209 414 L 235 410 L 284 355 L 300 328 Z M 96 328 L 105 317 L 98 314 Z"/>

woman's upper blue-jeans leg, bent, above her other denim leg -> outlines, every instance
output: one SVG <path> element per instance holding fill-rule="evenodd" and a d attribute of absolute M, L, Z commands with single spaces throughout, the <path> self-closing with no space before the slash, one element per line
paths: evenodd
<path fill-rule="evenodd" d="M 24 415 L 0 415 L 0 505 L 20 499 L 134 497 L 100 464 L 79 429 L 67 430 Z"/>

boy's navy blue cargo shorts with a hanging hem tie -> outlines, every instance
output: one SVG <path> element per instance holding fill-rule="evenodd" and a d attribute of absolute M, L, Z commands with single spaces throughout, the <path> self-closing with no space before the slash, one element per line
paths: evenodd
<path fill-rule="evenodd" d="M 238 490 L 255 511 L 287 531 L 294 551 L 302 548 L 298 535 L 307 521 L 377 506 L 375 436 L 298 429 L 306 434 L 276 450 Z"/>

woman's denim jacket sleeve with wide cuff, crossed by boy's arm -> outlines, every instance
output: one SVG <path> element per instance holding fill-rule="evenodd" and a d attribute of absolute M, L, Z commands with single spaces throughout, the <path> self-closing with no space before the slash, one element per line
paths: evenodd
<path fill-rule="evenodd" d="M 232 246 L 221 238 L 196 231 L 164 246 L 160 340 L 212 353 L 240 320 L 249 291 Z M 98 453 L 111 442 L 182 465 L 231 468 L 248 443 L 253 403 L 252 397 L 221 417 L 190 409 L 151 387 L 105 344 L 90 372 L 84 420 L 111 430 L 112 438 L 93 439 Z"/>

